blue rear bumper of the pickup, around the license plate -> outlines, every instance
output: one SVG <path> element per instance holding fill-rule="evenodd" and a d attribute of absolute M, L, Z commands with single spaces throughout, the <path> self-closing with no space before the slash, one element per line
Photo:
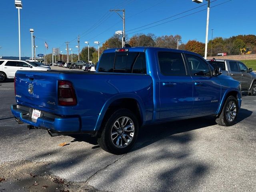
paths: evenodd
<path fill-rule="evenodd" d="M 20 121 L 58 134 L 94 134 L 94 131 L 81 132 L 81 121 L 79 117 L 59 116 L 41 111 L 41 116 L 35 120 L 31 118 L 33 108 L 22 105 L 12 105 L 11 110 L 14 117 L 19 118 Z"/>

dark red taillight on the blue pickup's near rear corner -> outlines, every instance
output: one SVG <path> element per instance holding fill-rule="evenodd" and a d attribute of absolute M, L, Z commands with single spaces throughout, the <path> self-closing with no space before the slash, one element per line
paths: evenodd
<path fill-rule="evenodd" d="M 58 81 L 58 105 L 73 106 L 76 105 L 76 94 L 73 85 L 69 81 Z"/>

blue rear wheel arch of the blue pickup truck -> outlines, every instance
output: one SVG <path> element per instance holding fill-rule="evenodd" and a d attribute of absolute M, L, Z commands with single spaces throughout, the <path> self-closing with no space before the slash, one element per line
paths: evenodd
<path fill-rule="evenodd" d="M 145 108 L 141 98 L 135 94 L 120 94 L 106 101 L 102 107 L 102 110 L 100 111 L 94 130 L 100 130 L 104 119 L 108 118 L 111 112 L 120 108 L 127 108 L 134 112 L 135 116 L 138 118 L 138 123 L 140 126 L 142 126 L 143 122 L 145 122 Z"/>

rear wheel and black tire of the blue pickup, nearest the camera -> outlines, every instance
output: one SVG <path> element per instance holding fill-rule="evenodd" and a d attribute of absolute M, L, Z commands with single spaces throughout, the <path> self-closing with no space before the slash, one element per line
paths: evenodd
<path fill-rule="evenodd" d="M 139 124 L 136 116 L 128 109 L 119 109 L 105 122 L 98 138 L 99 146 L 116 155 L 130 151 L 138 137 Z"/>

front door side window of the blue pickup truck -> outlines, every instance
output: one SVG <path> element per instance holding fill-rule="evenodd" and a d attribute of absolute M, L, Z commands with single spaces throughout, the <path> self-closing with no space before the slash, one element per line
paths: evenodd
<path fill-rule="evenodd" d="M 200 57 L 186 54 L 191 76 L 211 76 L 208 64 Z"/>

